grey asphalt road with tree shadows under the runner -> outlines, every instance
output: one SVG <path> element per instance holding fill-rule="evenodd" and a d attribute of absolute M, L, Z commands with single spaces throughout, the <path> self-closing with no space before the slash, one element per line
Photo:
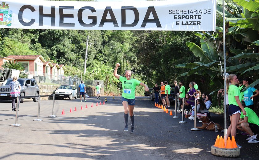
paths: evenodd
<path fill-rule="evenodd" d="M 41 122 L 33 121 L 37 119 L 38 103 L 25 100 L 19 107 L 20 127 L 10 126 L 15 123 L 15 112 L 11 111 L 10 102 L 1 101 L 0 159 L 226 159 L 210 152 L 217 135 L 223 136 L 223 133 L 191 131 L 193 120 L 184 119 L 188 123 L 178 123 L 181 118 L 172 118 L 154 107 L 149 97 L 136 97 L 134 133 L 123 131 L 121 97 L 115 97 L 114 101 L 107 97 L 105 105 L 100 105 L 104 97 L 86 100 L 55 100 L 56 118 L 49 117 L 52 100 L 42 100 Z M 71 108 L 72 113 L 69 112 Z M 63 109 L 65 114 L 62 115 Z M 223 116 L 217 114 L 212 114 L 211 120 L 221 125 L 224 121 Z M 197 122 L 197 126 L 201 123 Z M 246 138 L 241 134 L 236 136 L 242 148 L 241 155 L 235 159 L 255 159 L 259 154 L 259 143 L 249 144 Z"/>

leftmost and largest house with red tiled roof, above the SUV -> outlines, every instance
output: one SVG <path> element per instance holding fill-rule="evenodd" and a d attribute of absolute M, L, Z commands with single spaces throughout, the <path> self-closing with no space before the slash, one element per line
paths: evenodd
<path fill-rule="evenodd" d="M 22 63 L 25 70 L 34 73 L 34 76 L 43 76 L 43 63 L 46 61 L 41 55 L 10 55 L 7 58 Z"/>

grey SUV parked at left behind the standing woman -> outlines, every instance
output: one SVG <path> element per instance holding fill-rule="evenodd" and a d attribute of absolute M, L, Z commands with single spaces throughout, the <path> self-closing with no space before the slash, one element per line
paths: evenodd
<path fill-rule="evenodd" d="M 12 99 L 10 94 L 10 82 L 13 81 L 13 78 L 8 78 L 6 81 L 0 86 L 0 100 L 1 99 Z M 23 96 L 38 96 L 39 95 L 39 86 L 35 79 L 32 78 L 18 78 L 18 82 L 21 84 L 21 97 Z M 23 103 L 23 99 L 21 98 L 21 102 Z M 39 97 L 32 98 L 33 102 L 38 102 Z"/>

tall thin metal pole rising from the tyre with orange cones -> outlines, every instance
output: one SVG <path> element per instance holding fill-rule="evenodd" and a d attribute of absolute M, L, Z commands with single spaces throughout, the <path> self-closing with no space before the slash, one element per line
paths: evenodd
<path fill-rule="evenodd" d="M 227 146 L 227 105 L 226 105 L 226 91 L 227 91 L 227 81 L 226 81 L 226 37 L 225 37 L 225 1 L 222 0 L 222 9 L 223 9 L 223 63 L 224 63 L 224 137 L 225 142 L 224 146 Z"/>

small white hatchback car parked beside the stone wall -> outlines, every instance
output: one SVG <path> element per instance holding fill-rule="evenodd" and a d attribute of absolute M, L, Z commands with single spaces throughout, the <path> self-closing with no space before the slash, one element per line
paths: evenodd
<path fill-rule="evenodd" d="M 61 98 L 69 98 L 72 99 L 74 97 L 77 98 L 77 90 L 74 85 L 61 85 L 57 90 L 55 90 L 55 99 Z"/>

